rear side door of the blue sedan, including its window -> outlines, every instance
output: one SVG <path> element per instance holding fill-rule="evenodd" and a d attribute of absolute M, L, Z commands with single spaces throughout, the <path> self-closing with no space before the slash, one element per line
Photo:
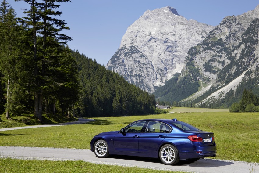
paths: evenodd
<path fill-rule="evenodd" d="M 147 124 L 145 132 L 140 135 L 139 152 L 155 153 L 170 130 L 171 128 L 164 123 L 150 121 Z"/>

